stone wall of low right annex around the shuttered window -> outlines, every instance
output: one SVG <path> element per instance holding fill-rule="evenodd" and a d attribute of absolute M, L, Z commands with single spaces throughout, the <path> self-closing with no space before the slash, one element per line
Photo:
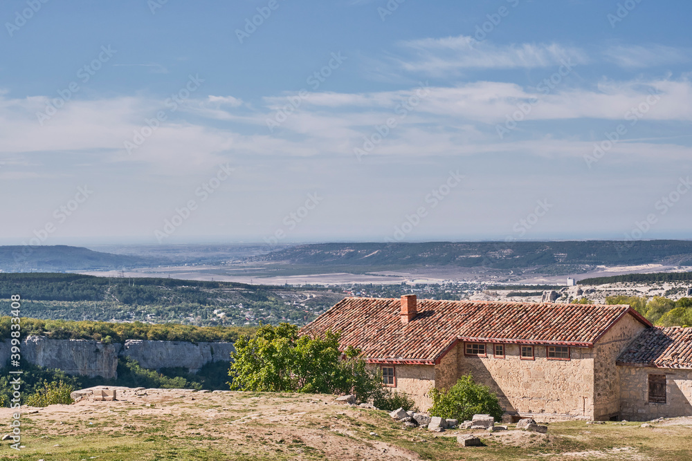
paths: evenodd
<path fill-rule="evenodd" d="M 692 370 L 618 366 L 620 416 L 649 421 L 657 417 L 692 416 Z M 648 401 L 648 375 L 666 375 L 666 403 Z"/>

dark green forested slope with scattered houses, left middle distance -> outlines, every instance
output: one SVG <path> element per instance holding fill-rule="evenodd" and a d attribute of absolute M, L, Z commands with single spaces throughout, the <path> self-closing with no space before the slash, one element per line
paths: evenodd
<path fill-rule="evenodd" d="M 147 321 L 198 326 L 304 324 L 343 298 L 311 288 L 80 274 L 0 274 L 0 299 L 19 294 L 36 319 Z"/>

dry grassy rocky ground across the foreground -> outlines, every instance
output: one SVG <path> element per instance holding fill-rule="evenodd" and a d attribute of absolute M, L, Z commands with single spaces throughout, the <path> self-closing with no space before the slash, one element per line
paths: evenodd
<path fill-rule="evenodd" d="M 112 389 L 112 388 L 111 388 Z M 410 428 L 333 395 L 115 388 L 116 401 L 21 408 L 21 451 L 0 459 L 147 460 L 686 460 L 692 420 L 564 422 L 546 434 Z M 0 409 L 10 422 L 12 410 Z M 475 434 L 483 446 L 463 447 Z"/>

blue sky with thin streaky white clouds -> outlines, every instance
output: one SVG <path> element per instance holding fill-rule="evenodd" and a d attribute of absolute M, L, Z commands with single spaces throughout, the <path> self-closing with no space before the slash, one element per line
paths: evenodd
<path fill-rule="evenodd" d="M 691 12 L 6 1 L 0 241 L 689 238 Z"/>

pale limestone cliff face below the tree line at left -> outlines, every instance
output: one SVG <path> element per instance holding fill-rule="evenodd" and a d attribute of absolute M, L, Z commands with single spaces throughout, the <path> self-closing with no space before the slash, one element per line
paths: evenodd
<path fill-rule="evenodd" d="M 9 340 L 0 341 L 0 366 L 10 359 Z M 48 339 L 29 336 L 21 340 L 21 359 L 46 368 L 60 368 L 69 375 L 89 377 L 118 376 L 118 357 L 129 356 L 143 368 L 183 366 L 197 373 L 210 361 L 230 361 L 233 343 L 198 343 L 184 341 L 125 341 L 120 344 L 103 344 L 86 339 Z"/>

